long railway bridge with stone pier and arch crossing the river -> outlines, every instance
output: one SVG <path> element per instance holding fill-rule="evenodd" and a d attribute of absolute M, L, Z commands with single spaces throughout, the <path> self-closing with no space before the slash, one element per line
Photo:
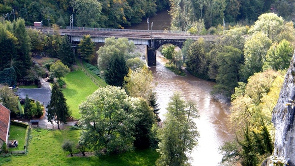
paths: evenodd
<path fill-rule="evenodd" d="M 37 28 L 37 27 L 31 27 Z M 37 28 L 43 33 L 53 33 L 53 28 Z M 133 41 L 136 45 L 146 45 L 146 60 L 148 66 L 156 66 L 156 51 L 164 44 L 173 44 L 182 48 L 186 39 L 198 40 L 203 38 L 205 41 L 214 41 L 217 35 L 192 35 L 185 31 L 164 31 L 164 30 L 130 30 L 130 29 L 107 29 L 107 28 L 84 28 L 67 27 L 59 29 L 60 35 L 68 35 L 71 41 L 79 42 L 84 35 L 90 35 L 91 40 L 96 43 L 104 43 L 105 38 L 125 37 Z"/>

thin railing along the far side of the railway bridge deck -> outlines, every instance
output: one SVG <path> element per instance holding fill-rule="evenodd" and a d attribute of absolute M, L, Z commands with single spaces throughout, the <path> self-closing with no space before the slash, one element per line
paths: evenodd
<path fill-rule="evenodd" d="M 88 28 L 88 27 L 66 27 L 67 29 L 75 30 L 91 30 L 91 31 L 121 31 L 121 32 L 143 32 L 150 33 L 151 30 L 134 30 L 134 29 L 112 29 L 112 28 Z M 152 33 L 187 33 L 186 31 L 177 31 L 177 30 L 152 30 Z"/>

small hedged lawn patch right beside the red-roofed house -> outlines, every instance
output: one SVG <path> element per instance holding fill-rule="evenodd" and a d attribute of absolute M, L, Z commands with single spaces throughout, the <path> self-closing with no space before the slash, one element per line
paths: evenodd
<path fill-rule="evenodd" d="M 10 147 L 9 151 L 25 150 L 26 128 L 21 126 L 10 125 L 8 140 L 18 140 L 18 147 Z"/>

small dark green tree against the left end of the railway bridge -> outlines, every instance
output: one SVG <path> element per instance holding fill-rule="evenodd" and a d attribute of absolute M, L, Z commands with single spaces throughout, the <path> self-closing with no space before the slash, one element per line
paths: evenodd
<path fill-rule="evenodd" d="M 91 41 L 90 35 L 83 36 L 78 47 L 78 53 L 83 59 L 90 62 L 94 58 L 95 44 Z"/>

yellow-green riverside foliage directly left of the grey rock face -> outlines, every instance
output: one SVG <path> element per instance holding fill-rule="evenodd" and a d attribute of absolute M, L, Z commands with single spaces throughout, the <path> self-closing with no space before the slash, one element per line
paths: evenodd
<path fill-rule="evenodd" d="M 273 151 L 272 110 L 278 100 L 284 73 L 256 73 L 239 83 L 233 95 L 230 125 L 236 138 L 221 147 L 224 163 L 242 166 L 261 163 Z"/>

